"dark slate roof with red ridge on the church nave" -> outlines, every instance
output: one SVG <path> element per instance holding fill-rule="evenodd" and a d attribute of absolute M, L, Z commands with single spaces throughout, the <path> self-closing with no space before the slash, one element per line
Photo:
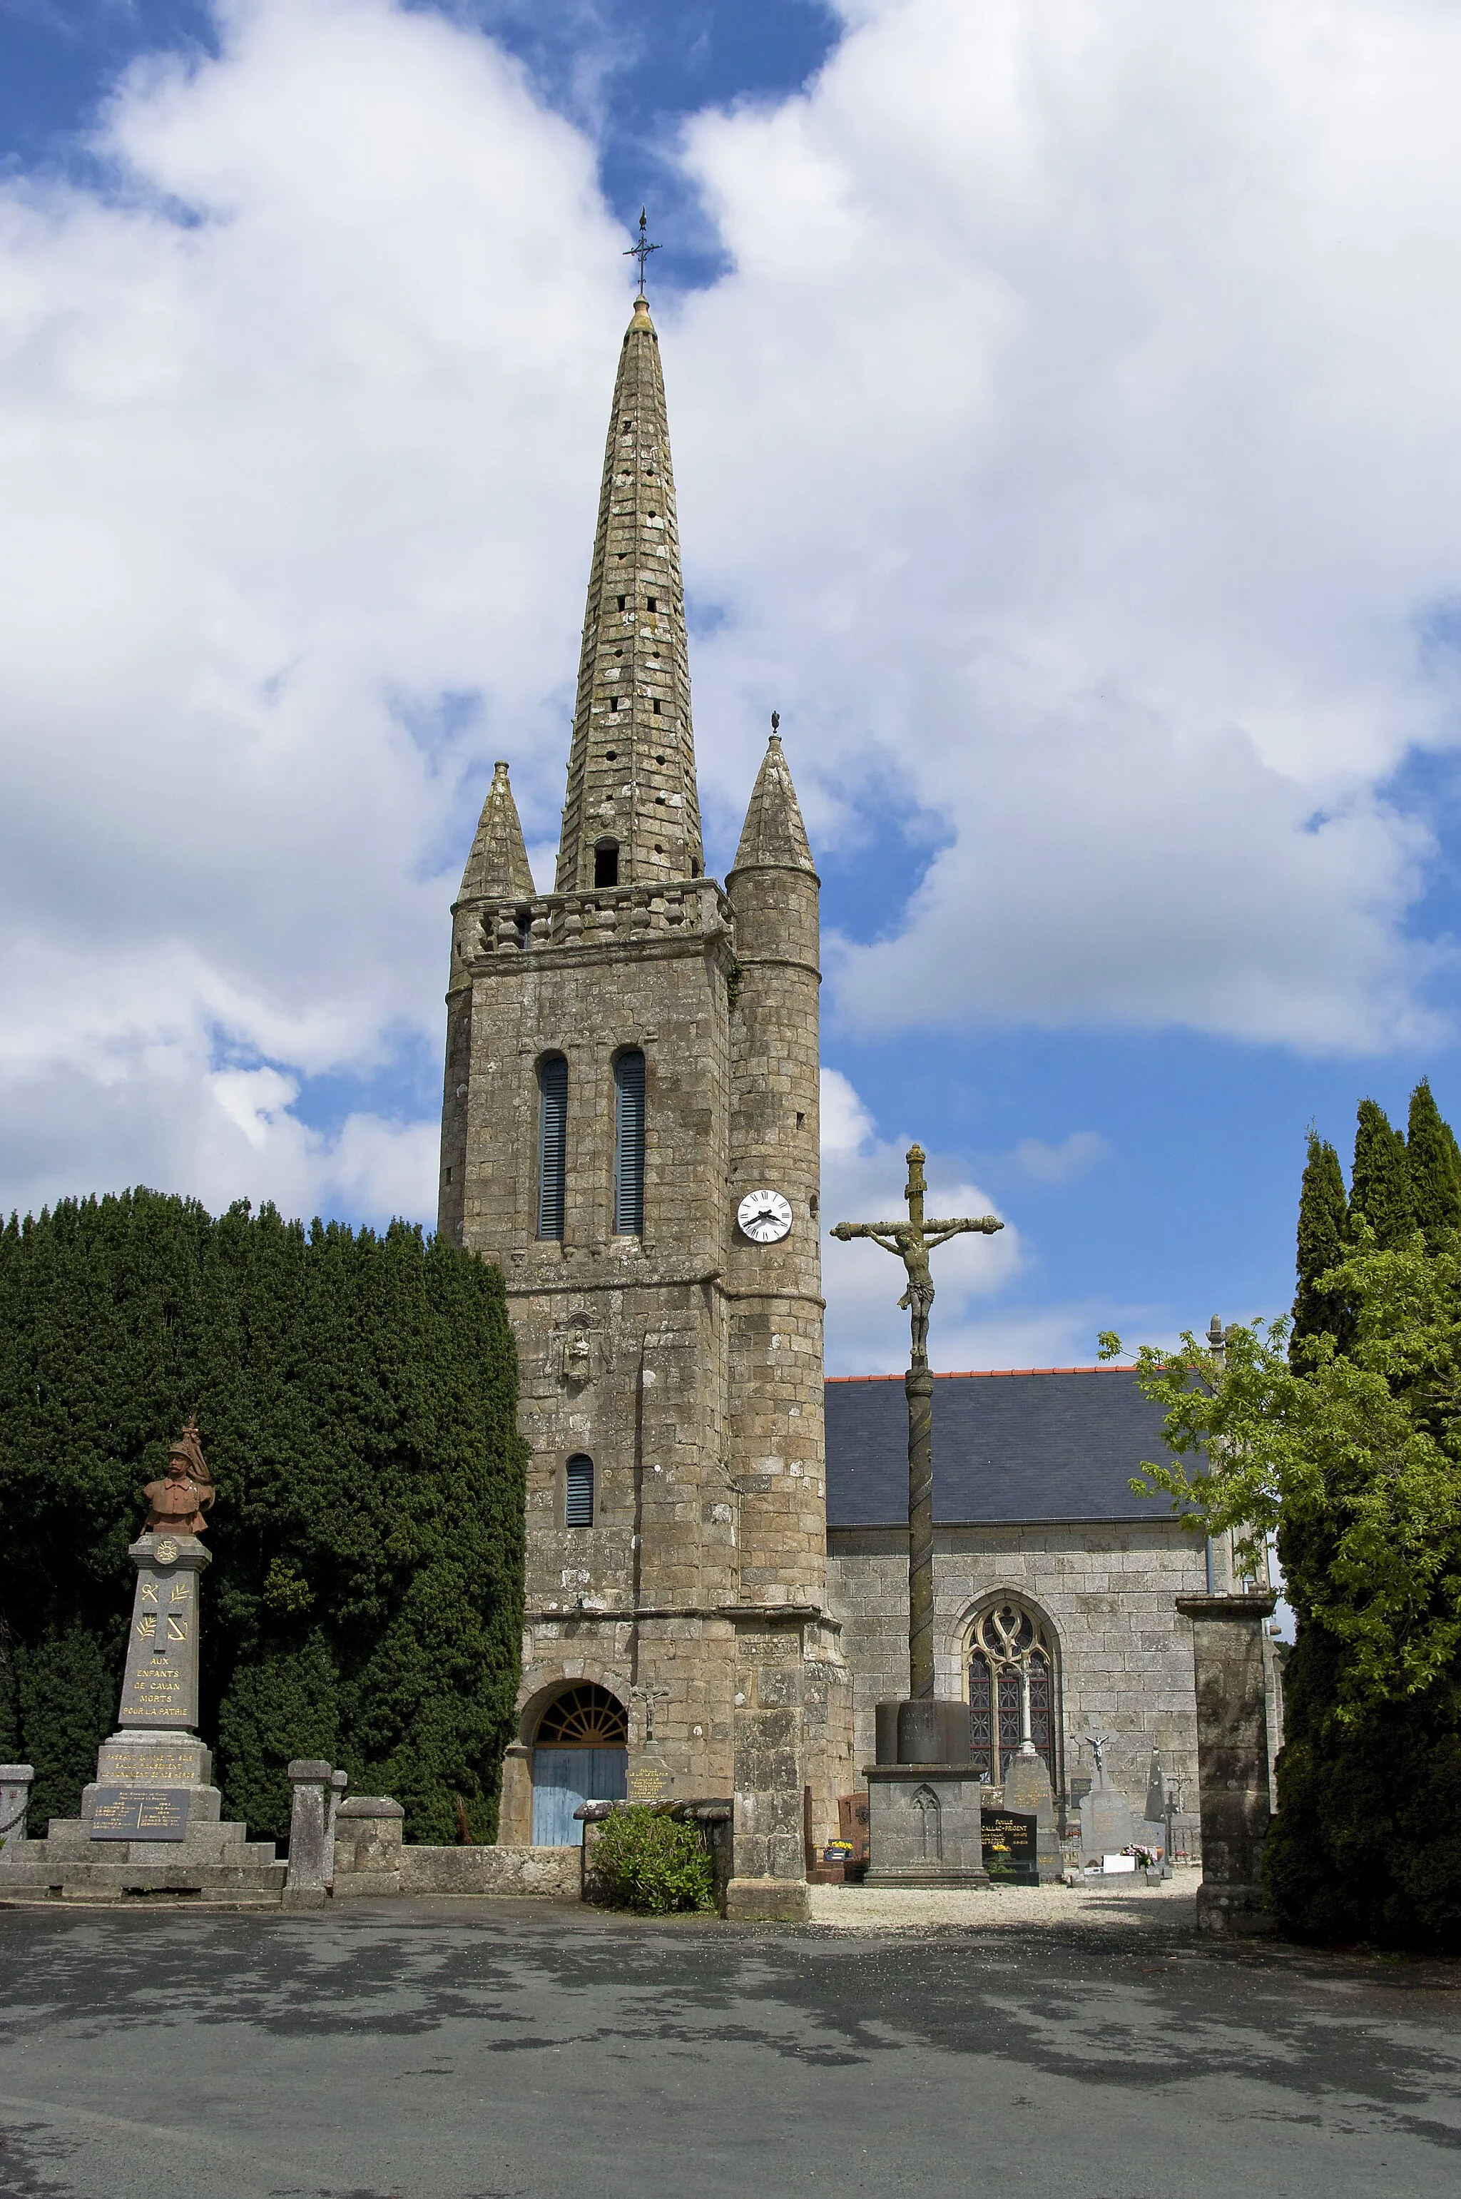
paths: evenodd
<path fill-rule="evenodd" d="M 1129 1368 L 934 1377 L 934 1520 L 1151 1520 L 1167 1498 L 1127 1489 L 1169 1458 L 1162 1412 Z M 907 1522 L 903 1377 L 826 1383 L 828 1526 Z"/>

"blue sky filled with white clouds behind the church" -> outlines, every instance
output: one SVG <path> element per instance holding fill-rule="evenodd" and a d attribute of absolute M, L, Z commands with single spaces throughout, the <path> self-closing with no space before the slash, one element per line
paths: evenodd
<path fill-rule="evenodd" d="M 1334 4 L 1309 70 L 1301 11 L 1239 7 L 1215 84 L 1153 7 L 1109 46 L 1074 0 L 1044 29 L 940 0 L 903 29 L 892 0 L 413 13 L 442 35 L 411 42 L 384 0 L 301 0 L 308 31 L 272 0 L 0 0 L 18 266 L 35 297 L 55 284 L 7 347 L 13 510 L 44 532 L 86 479 L 66 526 L 114 497 L 121 565 L 156 559 L 156 600 L 119 596 L 94 633 L 62 603 L 46 666 L 15 673 L 2 1203 L 145 1179 L 431 1218 L 448 873 L 497 752 L 529 844 L 551 842 L 617 253 L 648 200 L 712 866 L 780 706 L 824 875 L 828 1218 L 896 1190 L 910 1135 L 949 1196 L 1008 1216 L 1002 1264 L 947 1256 L 943 1366 L 1088 1361 L 1105 1326 L 1283 1311 L 1307 1124 L 1347 1154 L 1356 1102 L 1404 1115 L 1424 1073 L 1461 1117 L 1454 194 L 1450 169 L 1404 180 L 1406 141 L 1441 143 L 1426 81 L 1450 26 Z M 971 68 L 953 114 L 945 53 Z M 187 66 L 158 75 L 167 55 Z M 1274 81 L 1254 112 L 1246 86 Z M 461 183 L 444 163 L 402 213 L 426 255 L 389 257 L 428 156 L 367 205 L 371 132 L 404 143 L 457 92 L 444 139 L 470 161 L 479 99 L 497 165 Z M 1327 114 L 1360 121 L 1336 145 Z M 384 273 L 352 288 L 373 251 Z M 532 292 L 534 328 L 558 330 L 532 372 L 486 306 L 437 325 L 475 253 L 497 273 L 464 290 Z M 1443 292 L 1426 306 L 1421 268 Z M 341 442 L 310 488 L 332 429 L 301 391 L 387 292 L 358 385 L 369 464 Z M 261 319 L 255 358 L 239 332 Z M 145 429 L 99 387 L 141 389 Z M 488 446 L 494 418 L 512 451 Z M 294 451 L 294 517 L 264 488 L 248 512 L 257 464 L 187 486 L 235 433 Z M 453 433 L 483 444 L 459 468 Z M 754 497 L 747 435 L 771 453 Z M 373 473 L 382 449 L 400 464 Z M 477 464 L 494 510 L 508 482 L 536 515 L 481 550 Z M 215 572 L 211 499 L 248 512 L 248 554 L 231 521 Z M 411 559 L 358 548 L 393 526 Z M 11 552 L 29 570 L 26 541 Z M 334 594 L 292 625 L 321 570 Z M 415 603 L 433 572 L 442 598 L 475 574 L 483 605 L 510 600 L 501 679 L 466 581 L 459 611 Z M 193 585 L 187 649 L 202 627 L 211 653 L 182 662 L 167 620 Z M 134 688 L 101 671 L 130 664 L 127 620 L 152 636 Z M 393 636 L 378 660 L 371 629 Z M 57 671 L 77 633 L 94 679 Z M 235 664 L 272 668 L 228 699 Z M 242 776 L 209 776 L 231 739 Z M 112 772 L 116 803 L 92 807 Z M 143 798 L 152 772 L 167 792 Z M 301 880 L 332 864 L 312 899 Z M 68 972 L 99 970 L 99 939 L 121 961 L 83 1014 Z M 899 1363 L 888 1278 L 837 1262 L 830 1366 Z"/>

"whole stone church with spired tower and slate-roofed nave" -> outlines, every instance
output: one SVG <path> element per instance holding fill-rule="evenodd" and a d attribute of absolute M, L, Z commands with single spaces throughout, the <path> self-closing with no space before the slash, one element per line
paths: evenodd
<path fill-rule="evenodd" d="M 453 908 L 439 1227 L 501 1264 L 521 1357 L 527 1605 L 503 1843 L 584 1797 L 734 1797 L 732 1913 L 778 1913 L 907 1691 L 901 1379 L 824 1381 L 817 873 L 773 732 L 705 877 L 659 336 L 624 334 L 558 873 L 499 763 Z M 936 1379 L 938 1693 L 989 1779 L 1083 1735 L 1195 1801 L 1189 1621 L 1215 1552 L 1127 1489 L 1129 1372 Z M 1224 1583 L 1217 1583 L 1224 1585 Z M 1182 1825 L 1182 1819 L 1178 1821 Z"/>

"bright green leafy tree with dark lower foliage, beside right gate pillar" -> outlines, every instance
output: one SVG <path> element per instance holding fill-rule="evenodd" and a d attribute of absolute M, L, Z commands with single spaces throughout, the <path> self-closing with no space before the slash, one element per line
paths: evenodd
<path fill-rule="evenodd" d="M 1353 1308 L 1287 1355 L 1287 1324 L 1142 1348 L 1167 1407 L 1164 1491 L 1195 1533 L 1276 1531 L 1298 1638 L 1263 1869 L 1301 1935 L 1461 1948 L 1461 1240 L 1382 1247 L 1364 1218 L 1320 1289 Z M 1118 1339 L 1107 1337 L 1109 1350 Z M 1189 1465 L 1191 1462 L 1191 1465 Z"/>

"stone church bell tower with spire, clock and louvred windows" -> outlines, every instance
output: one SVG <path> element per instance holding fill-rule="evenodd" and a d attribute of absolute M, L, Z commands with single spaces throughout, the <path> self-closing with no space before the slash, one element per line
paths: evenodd
<path fill-rule="evenodd" d="M 703 869 L 642 290 L 554 891 L 499 763 L 453 908 L 439 1227 L 503 1271 L 532 1447 L 499 1841 L 573 1838 L 573 1779 L 734 1797 L 732 1913 L 782 1915 L 806 1792 L 828 1827 L 848 1783 L 850 1689 L 824 1603 L 817 875 L 776 732 L 725 888 Z"/>

